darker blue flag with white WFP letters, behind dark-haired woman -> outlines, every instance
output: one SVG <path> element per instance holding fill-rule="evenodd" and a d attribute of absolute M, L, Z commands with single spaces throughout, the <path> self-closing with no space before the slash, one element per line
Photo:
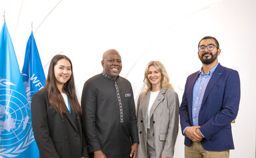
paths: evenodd
<path fill-rule="evenodd" d="M 43 72 L 43 66 L 33 32 L 31 32 L 29 40 L 27 41 L 21 77 L 27 93 L 27 100 L 29 104 L 31 104 L 33 94 L 45 86 L 45 73 Z"/>

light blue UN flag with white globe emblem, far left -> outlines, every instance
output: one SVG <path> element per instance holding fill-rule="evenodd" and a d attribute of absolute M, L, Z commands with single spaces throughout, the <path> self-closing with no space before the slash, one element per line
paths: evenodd
<path fill-rule="evenodd" d="M 34 158 L 35 149 L 31 108 L 4 22 L 0 33 L 0 157 Z"/>

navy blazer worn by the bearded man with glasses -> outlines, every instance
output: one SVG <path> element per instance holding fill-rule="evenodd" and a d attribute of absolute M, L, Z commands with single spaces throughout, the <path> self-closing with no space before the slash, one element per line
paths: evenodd
<path fill-rule="evenodd" d="M 181 130 L 192 126 L 193 86 L 199 72 L 187 78 L 185 90 L 179 108 Z M 201 141 L 207 151 L 225 151 L 235 149 L 231 131 L 231 121 L 237 117 L 240 102 L 240 80 L 236 70 L 219 64 L 209 80 L 199 111 L 199 125 L 205 136 Z M 185 145 L 191 140 L 185 137 Z"/>

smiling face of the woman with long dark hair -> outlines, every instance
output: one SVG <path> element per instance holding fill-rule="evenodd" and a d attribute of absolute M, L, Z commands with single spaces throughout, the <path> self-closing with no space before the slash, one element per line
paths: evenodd
<path fill-rule="evenodd" d="M 63 90 L 63 85 L 69 80 L 71 77 L 72 70 L 70 62 L 63 58 L 57 62 L 54 66 L 54 76 L 56 80 L 57 87 L 60 92 Z"/>

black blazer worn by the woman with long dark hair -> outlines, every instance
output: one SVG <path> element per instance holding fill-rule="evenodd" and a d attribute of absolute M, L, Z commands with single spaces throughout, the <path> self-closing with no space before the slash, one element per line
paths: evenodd
<path fill-rule="evenodd" d="M 71 110 L 61 117 L 49 104 L 45 88 L 33 95 L 31 114 L 40 158 L 89 157 L 79 115 Z"/>

